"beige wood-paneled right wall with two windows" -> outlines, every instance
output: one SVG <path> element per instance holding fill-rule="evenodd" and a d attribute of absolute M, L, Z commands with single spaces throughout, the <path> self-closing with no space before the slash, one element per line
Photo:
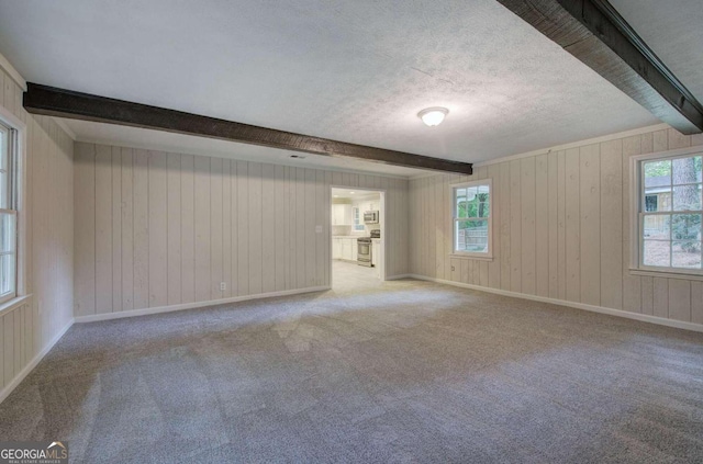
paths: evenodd
<path fill-rule="evenodd" d="M 411 272 L 703 324 L 703 282 L 631 274 L 629 157 L 703 145 L 673 129 L 410 182 Z M 494 258 L 450 257 L 449 185 L 493 179 Z"/>

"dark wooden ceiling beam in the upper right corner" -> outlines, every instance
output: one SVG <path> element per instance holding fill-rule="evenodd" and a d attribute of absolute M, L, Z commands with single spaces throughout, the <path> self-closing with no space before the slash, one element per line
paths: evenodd
<path fill-rule="evenodd" d="M 498 1 L 680 133 L 703 131 L 703 105 L 607 1 Z"/>

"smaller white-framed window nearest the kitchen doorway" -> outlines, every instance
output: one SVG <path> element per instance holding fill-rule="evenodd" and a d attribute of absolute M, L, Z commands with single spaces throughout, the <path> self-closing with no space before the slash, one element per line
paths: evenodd
<path fill-rule="evenodd" d="M 451 186 L 454 252 L 490 258 L 491 180 Z"/>

